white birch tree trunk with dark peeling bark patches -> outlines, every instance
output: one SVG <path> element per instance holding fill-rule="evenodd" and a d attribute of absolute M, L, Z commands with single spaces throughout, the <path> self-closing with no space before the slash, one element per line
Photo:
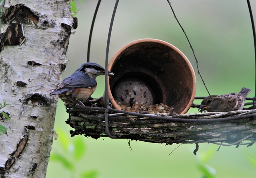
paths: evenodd
<path fill-rule="evenodd" d="M 60 82 L 76 20 L 70 0 L 3 0 L 0 103 L 11 122 L 0 136 L 0 177 L 45 177 Z"/>

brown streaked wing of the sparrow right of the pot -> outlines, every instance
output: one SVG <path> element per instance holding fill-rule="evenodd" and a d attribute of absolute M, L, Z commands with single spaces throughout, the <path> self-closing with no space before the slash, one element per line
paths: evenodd
<path fill-rule="evenodd" d="M 228 102 L 228 105 L 230 105 L 234 111 L 243 109 L 244 98 L 242 95 L 240 95 L 240 93 L 227 93 L 221 96 L 227 99 L 226 101 Z"/>

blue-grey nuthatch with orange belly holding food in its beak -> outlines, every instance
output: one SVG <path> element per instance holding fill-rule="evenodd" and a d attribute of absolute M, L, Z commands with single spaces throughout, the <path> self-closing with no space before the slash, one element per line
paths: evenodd
<path fill-rule="evenodd" d="M 58 95 L 66 104 L 84 106 L 84 102 L 97 87 L 96 77 L 104 75 L 105 69 L 98 63 L 83 63 L 74 73 L 66 77 L 50 94 Z M 108 71 L 108 75 L 114 75 Z"/>

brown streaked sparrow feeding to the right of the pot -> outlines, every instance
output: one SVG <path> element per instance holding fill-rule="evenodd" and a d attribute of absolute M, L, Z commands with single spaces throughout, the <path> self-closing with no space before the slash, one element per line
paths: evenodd
<path fill-rule="evenodd" d="M 244 101 L 246 96 L 252 90 L 243 87 L 239 93 L 227 93 L 224 95 L 210 95 L 206 97 L 198 110 L 208 112 L 228 112 L 237 111 L 244 108 Z"/>

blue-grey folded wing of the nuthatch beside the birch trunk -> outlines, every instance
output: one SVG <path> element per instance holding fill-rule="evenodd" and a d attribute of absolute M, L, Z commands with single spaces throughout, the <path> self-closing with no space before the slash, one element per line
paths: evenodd
<path fill-rule="evenodd" d="M 50 94 L 58 95 L 74 88 L 95 87 L 97 82 L 88 73 L 74 72 L 72 75 L 63 79 L 55 91 Z"/>

